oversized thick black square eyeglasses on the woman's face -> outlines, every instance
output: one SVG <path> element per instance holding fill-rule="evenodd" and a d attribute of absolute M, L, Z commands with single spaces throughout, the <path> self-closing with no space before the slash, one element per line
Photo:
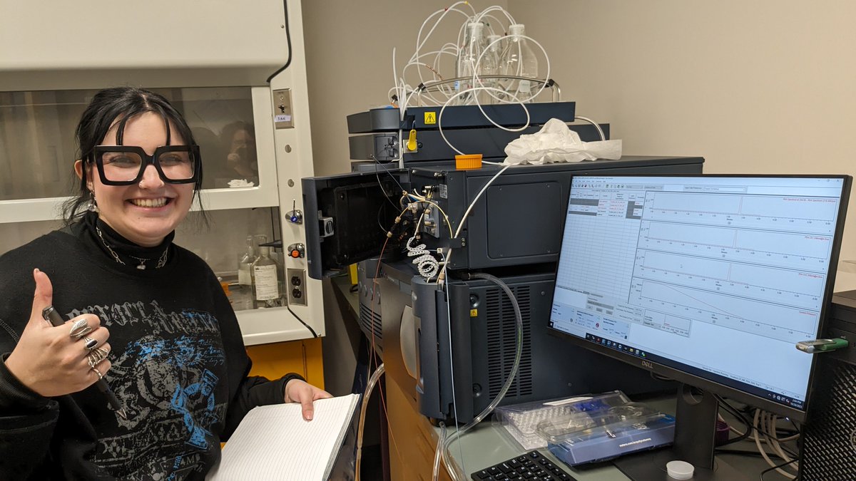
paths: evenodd
<path fill-rule="evenodd" d="M 151 163 L 169 184 L 189 184 L 199 179 L 199 145 L 163 145 L 153 155 L 134 145 L 97 145 L 92 157 L 101 182 L 108 186 L 130 186 L 143 178 Z"/>

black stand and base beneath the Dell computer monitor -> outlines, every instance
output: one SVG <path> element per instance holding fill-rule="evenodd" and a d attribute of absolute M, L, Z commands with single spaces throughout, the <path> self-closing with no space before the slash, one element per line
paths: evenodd
<path fill-rule="evenodd" d="M 645 451 L 613 460 L 627 478 L 667 480 L 666 463 L 687 461 L 695 466 L 693 481 L 739 481 L 749 478 L 713 456 L 719 405 L 711 393 L 681 384 L 675 409 L 675 443 L 671 448 Z"/>

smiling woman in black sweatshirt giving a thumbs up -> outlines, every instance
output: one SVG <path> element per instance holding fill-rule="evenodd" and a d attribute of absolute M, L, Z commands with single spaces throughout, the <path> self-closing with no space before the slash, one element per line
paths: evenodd
<path fill-rule="evenodd" d="M 217 276 L 172 242 L 202 181 L 183 117 L 154 92 L 107 89 L 77 140 L 67 225 L 0 256 L 0 478 L 203 479 L 253 407 L 300 402 L 312 419 L 330 395 L 248 376 Z M 45 323 L 48 306 L 66 324 Z M 93 389 L 102 378 L 121 408 Z"/>

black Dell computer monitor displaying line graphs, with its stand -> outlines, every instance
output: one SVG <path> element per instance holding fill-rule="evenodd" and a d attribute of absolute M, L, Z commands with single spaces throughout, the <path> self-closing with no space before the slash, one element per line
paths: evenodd
<path fill-rule="evenodd" d="M 715 395 L 805 420 L 814 359 L 795 345 L 823 332 L 850 185 L 575 176 L 550 330 L 683 383 L 664 455 L 710 469 Z"/>

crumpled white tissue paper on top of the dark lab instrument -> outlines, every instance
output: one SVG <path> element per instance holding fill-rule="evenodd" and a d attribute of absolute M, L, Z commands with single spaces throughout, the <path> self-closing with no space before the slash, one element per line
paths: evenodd
<path fill-rule="evenodd" d="M 583 142 L 565 122 L 550 119 L 535 134 L 520 135 L 505 146 L 505 164 L 580 162 L 621 158 L 621 140 Z"/>

